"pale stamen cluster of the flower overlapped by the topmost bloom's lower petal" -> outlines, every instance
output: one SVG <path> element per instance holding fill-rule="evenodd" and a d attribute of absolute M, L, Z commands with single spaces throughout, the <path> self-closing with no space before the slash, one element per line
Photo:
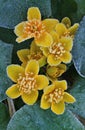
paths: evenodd
<path fill-rule="evenodd" d="M 53 43 L 49 48 L 49 52 L 50 54 L 55 55 L 55 58 L 58 59 L 65 53 L 65 49 L 62 43 Z"/>

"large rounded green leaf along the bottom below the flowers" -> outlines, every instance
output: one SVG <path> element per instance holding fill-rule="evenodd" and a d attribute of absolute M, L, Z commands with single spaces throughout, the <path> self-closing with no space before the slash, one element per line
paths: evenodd
<path fill-rule="evenodd" d="M 63 115 L 55 115 L 50 110 L 42 110 L 38 104 L 25 105 L 10 120 L 7 130 L 85 130 L 78 119 L 67 110 Z"/>

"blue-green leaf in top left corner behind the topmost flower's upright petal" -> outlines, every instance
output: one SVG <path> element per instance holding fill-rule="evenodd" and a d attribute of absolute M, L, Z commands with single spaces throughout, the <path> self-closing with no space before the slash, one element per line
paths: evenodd
<path fill-rule="evenodd" d="M 0 0 L 0 26 L 14 28 L 27 19 L 29 7 L 39 7 L 43 17 L 51 16 L 50 0 Z"/>

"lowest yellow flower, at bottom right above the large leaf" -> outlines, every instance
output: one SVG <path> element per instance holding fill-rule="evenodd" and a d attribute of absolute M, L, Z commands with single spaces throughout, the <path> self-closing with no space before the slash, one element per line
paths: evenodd
<path fill-rule="evenodd" d="M 65 102 L 73 103 L 75 98 L 64 90 L 67 89 L 65 80 L 56 81 L 44 89 L 44 94 L 41 98 L 41 108 L 51 110 L 55 114 L 63 114 L 65 110 Z"/>

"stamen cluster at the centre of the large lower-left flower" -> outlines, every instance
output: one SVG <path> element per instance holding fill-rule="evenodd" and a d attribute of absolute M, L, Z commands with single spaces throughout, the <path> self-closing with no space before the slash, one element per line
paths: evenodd
<path fill-rule="evenodd" d="M 36 80 L 34 78 L 34 74 L 27 73 L 24 76 L 22 74 L 19 74 L 18 78 L 18 88 L 21 93 L 31 93 L 31 91 L 36 90 Z"/>

